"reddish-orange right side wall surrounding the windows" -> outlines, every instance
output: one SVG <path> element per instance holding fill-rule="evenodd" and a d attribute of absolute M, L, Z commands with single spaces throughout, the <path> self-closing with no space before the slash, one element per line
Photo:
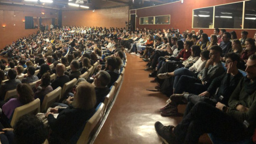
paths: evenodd
<path fill-rule="evenodd" d="M 195 0 L 184 0 L 182 4 L 179 2 L 174 2 L 165 5 L 146 7 L 144 9 L 137 9 L 136 18 L 136 27 L 138 28 L 149 28 L 149 29 L 163 29 L 163 28 L 175 28 L 180 31 L 185 31 L 187 29 L 196 30 L 197 28 L 192 29 L 192 14 L 193 9 L 198 9 L 201 7 L 209 7 L 213 5 L 220 5 L 226 3 L 240 2 L 242 0 L 204 0 L 204 1 L 195 1 Z M 157 15 L 171 15 L 170 25 L 140 25 L 140 17 L 149 17 Z M 203 29 L 204 33 L 211 35 L 213 34 L 213 29 Z M 242 29 L 227 29 L 227 31 L 235 30 L 237 36 L 240 37 Z M 256 30 L 247 30 L 249 32 L 249 37 L 253 37 Z"/>

